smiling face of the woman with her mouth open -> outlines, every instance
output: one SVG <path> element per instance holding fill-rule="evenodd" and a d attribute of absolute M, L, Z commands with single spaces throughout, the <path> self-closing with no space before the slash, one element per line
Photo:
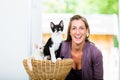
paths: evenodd
<path fill-rule="evenodd" d="M 81 44 L 85 42 L 86 34 L 88 29 L 85 26 L 85 23 L 81 20 L 73 20 L 70 27 L 70 36 L 72 42 L 75 44 Z"/>

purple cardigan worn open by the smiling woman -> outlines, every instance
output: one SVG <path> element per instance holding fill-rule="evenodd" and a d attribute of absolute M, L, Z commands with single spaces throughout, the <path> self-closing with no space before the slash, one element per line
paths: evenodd
<path fill-rule="evenodd" d="M 71 58 L 70 42 L 62 42 L 61 56 Z M 82 80 L 103 80 L 103 56 L 90 42 L 85 42 L 82 54 Z"/>

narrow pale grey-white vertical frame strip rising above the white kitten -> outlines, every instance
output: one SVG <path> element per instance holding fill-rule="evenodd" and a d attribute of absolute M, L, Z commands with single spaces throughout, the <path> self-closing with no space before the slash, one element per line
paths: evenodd
<path fill-rule="evenodd" d="M 42 0 L 31 0 L 31 48 L 34 53 L 34 43 L 42 43 Z"/>

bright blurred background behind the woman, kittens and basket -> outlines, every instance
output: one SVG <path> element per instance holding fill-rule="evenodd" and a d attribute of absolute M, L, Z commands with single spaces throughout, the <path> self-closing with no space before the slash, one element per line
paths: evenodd
<path fill-rule="evenodd" d="M 75 14 L 86 17 L 90 40 L 102 51 L 104 80 L 120 80 L 119 5 L 119 0 L 1 0 L 0 80 L 29 80 L 23 59 L 51 36 L 51 21 L 64 21 L 65 39 Z"/>

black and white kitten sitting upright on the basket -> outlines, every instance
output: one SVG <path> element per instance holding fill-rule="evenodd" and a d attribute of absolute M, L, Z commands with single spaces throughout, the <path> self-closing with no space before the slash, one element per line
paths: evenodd
<path fill-rule="evenodd" d="M 52 35 L 45 44 L 43 53 L 45 59 L 47 59 L 47 56 L 50 56 L 52 62 L 55 63 L 56 59 L 60 58 L 60 49 L 61 49 L 61 42 L 63 40 L 62 32 L 63 32 L 64 24 L 62 20 L 57 25 L 51 22 L 50 27 L 52 30 Z"/>

